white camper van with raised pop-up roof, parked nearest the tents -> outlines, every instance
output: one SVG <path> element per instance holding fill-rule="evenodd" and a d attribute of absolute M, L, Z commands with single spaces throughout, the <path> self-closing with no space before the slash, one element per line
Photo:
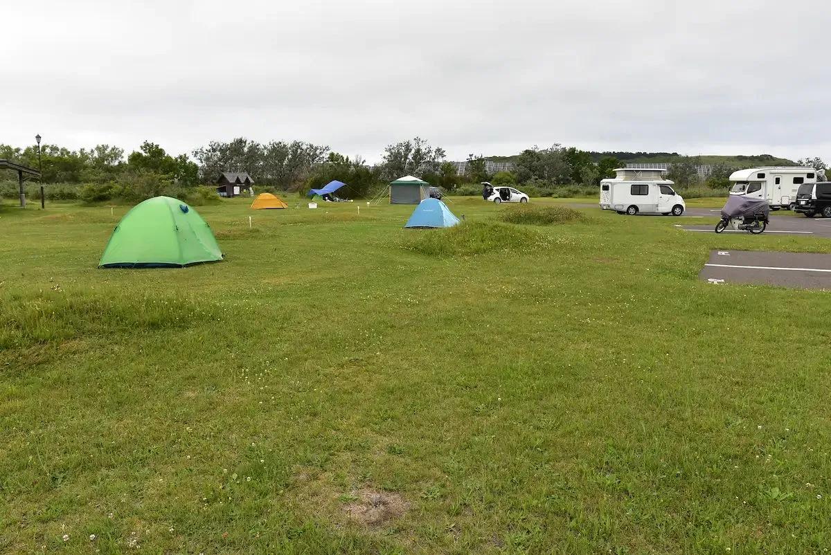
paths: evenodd
<path fill-rule="evenodd" d="M 617 214 L 684 214 L 686 204 L 664 179 L 666 169 L 615 169 L 614 179 L 600 182 L 600 208 Z"/>

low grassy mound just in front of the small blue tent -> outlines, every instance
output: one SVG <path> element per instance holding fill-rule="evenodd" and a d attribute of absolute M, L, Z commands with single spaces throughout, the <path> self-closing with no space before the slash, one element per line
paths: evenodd
<path fill-rule="evenodd" d="M 401 248 L 435 257 L 528 252 L 546 242 L 532 229 L 491 222 L 462 222 L 444 229 L 405 229 L 403 233 Z"/>

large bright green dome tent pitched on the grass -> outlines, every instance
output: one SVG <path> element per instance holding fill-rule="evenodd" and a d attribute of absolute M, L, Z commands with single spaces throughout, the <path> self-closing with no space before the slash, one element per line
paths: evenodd
<path fill-rule="evenodd" d="M 219 244 L 196 210 L 177 199 L 155 197 L 125 214 L 98 268 L 180 268 L 218 260 Z"/>

